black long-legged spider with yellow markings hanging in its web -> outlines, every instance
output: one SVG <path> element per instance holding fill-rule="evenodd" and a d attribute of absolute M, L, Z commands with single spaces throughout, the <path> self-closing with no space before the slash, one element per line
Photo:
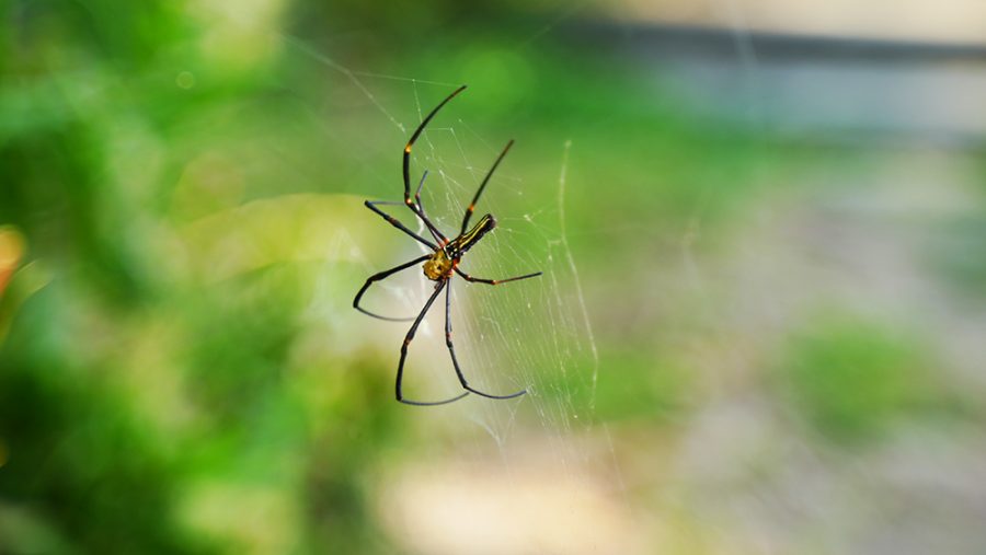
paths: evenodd
<path fill-rule="evenodd" d="M 466 209 L 466 216 L 462 218 L 462 229 L 459 231 L 459 235 L 452 240 L 448 240 L 438 228 L 428 219 L 425 215 L 424 206 L 421 204 L 421 188 L 424 186 L 425 177 L 427 177 L 427 172 L 421 177 L 421 182 L 417 184 L 417 190 L 414 193 L 414 197 L 411 197 L 411 148 L 414 147 L 414 141 L 421 136 L 422 131 L 424 131 L 425 126 L 428 125 L 428 122 L 435 117 L 435 114 L 442 109 L 448 101 L 452 100 L 457 94 L 466 90 L 466 85 L 459 86 L 451 94 L 446 96 L 442 103 L 435 106 L 434 109 L 422 120 L 421 125 L 417 126 L 417 129 L 411 135 L 411 139 L 408 141 L 408 144 L 404 147 L 404 201 L 385 201 L 385 200 L 367 200 L 364 203 L 367 208 L 372 210 L 374 212 L 380 215 L 381 218 L 387 220 L 394 228 L 403 231 L 408 235 L 414 238 L 419 243 L 426 245 L 432 250 L 429 254 L 425 254 L 424 256 L 420 256 L 414 258 L 411 262 L 406 262 L 399 266 L 394 266 L 393 268 L 374 274 L 369 278 L 367 278 L 366 284 L 359 289 L 359 292 L 356 293 L 356 298 L 353 299 L 353 308 L 363 312 L 364 314 L 370 315 L 376 319 L 387 320 L 391 322 L 410 322 L 414 321 L 411 324 L 411 328 L 408 331 L 408 335 L 404 336 L 404 343 L 401 345 L 401 358 L 398 362 L 398 371 L 397 371 L 397 385 L 394 386 L 394 393 L 397 395 L 397 400 L 401 403 L 408 405 L 417 405 L 417 406 L 434 406 L 434 405 L 445 405 L 447 403 L 452 403 L 459 401 L 460 398 L 469 395 L 469 393 L 475 393 L 477 395 L 481 395 L 488 398 L 514 398 L 519 397 L 527 393 L 527 390 L 520 390 L 516 393 L 511 393 L 508 395 L 493 395 L 490 393 L 484 393 L 471 385 L 466 381 L 466 375 L 462 373 L 462 369 L 459 367 L 459 361 L 456 358 L 456 348 L 452 345 L 451 339 L 451 278 L 454 275 L 458 274 L 466 281 L 474 282 L 474 284 L 486 284 L 491 286 L 496 286 L 500 284 L 506 284 L 508 281 L 517 281 L 520 279 L 527 279 L 540 276 L 540 271 L 536 271 L 534 274 L 527 274 L 524 276 L 517 276 L 506 279 L 486 279 L 486 278 L 478 278 L 472 277 L 469 274 L 459 269 L 459 263 L 462 259 L 462 256 L 485 235 L 493 228 L 496 227 L 496 219 L 493 218 L 492 215 L 484 215 L 480 218 L 479 222 L 473 226 L 471 229 L 469 228 L 469 220 L 472 217 L 472 212 L 475 210 L 475 204 L 480 198 L 480 195 L 483 194 L 483 189 L 486 188 L 486 184 L 490 182 L 490 177 L 493 175 L 493 172 L 496 171 L 496 166 L 500 165 L 500 162 L 503 160 L 503 157 L 506 155 L 507 151 L 511 150 L 511 147 L 514 144 L 514 141 L 511 140 L 507 142 L 506 147 L 496 158 L 496 161 L 493 162 L 493 166 L 486 172 L 486 176 L 483 177 L 482 183 L 480 183 L 479 189 L 475 192 L 475 195 L 472 197 L 472 203 L 469 204 L 469 208 Z M 403 223 L 399 222 L 397 218 L 390 216 L 380 208 L 377 208 L 378 205 L 390 205 L 390 206 L 400 206 L 404 205 L 411 209 L 414 215 L 421 219 L 424 226 L 428 229 L 428 233 L 434 239 L 434 242 L 425 239 L 417 233 L 411 231 Z M 423 264 L 422 264 L 423 263 Z M 421 312 L 417 316 L 411 317 L 388 317 L 381 316 L 379 314 L 375 314 L 362 307 L 359 307 L 359 299 L 363 298 L 363 294 L 366 292 L 369 287 L 376 282 L 386 279 L 387 277 L 397 274 L 403 269 L 410 268 L 416 264 L 422 264 L 422 269 L 424 270 L 425 277 L 435 281 L 435 289 L 432 292 L 428 300 L 425 302 L 424 308 L 421 309 Z M 432 304 L 435 302 L 435 299 L 445 289 L 445 345 L 448 347 L 448 354 L 451 357 L 452 367 L 456 369 L 456 374 L 459 378 L 459 383 L 462 384 L 462 389 L 466 390 L 462 394 L 457 395 L 455 397 L 446 398 L 443 401 L 411 401 L 404 398 L 404 394 L 401 390 L 401 381 L 404 375 L 404 360 L 408 358 L 408 347 L 411 345 L 411 342 L 414 339 L 414 334 L 417 332 L 417 326 L 421 325 L 421 321 L 424 319 L 425 314 L 427 314 L 428 309 L 432 308 Z"/>

